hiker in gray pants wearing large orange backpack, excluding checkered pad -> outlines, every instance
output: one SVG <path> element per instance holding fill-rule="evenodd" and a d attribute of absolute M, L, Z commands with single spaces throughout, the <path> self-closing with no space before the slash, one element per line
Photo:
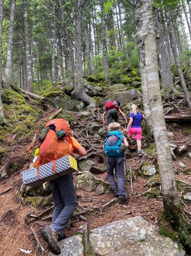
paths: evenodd
<path fill-rule="evenodd" d="M 38 159 L 33 164 L 33 167 L 39 167 L 39 165 L 73 153 L 77 153 L 80 156 L 87 155 L 86 149 L 71 136 L 71 128 L 64 119 L 49 121 L 42 132 L 40 141 Z M 48 249 L 52 253 L 59 255 L 61 250 L 58 245 L 58 239 L 62 238 L 62 231 L 76 210 L 78 200 L 72 174 L 51 180 L 50 186 L 55 206 L 52 224 L 42 229 L 42 237 L 48 243 Z"/>

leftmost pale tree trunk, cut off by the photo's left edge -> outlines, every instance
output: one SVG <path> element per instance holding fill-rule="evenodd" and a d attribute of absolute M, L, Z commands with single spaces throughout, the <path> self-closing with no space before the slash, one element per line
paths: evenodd
<path fill-rule="evenodd" d="M 2 97 L 2 26 L 3 26 L 3 0 L 0 0 L 0 123 L 4 118 Z"/>

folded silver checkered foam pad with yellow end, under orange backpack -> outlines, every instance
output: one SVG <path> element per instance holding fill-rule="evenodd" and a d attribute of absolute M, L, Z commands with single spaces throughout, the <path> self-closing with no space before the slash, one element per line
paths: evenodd
<path fill-rule="evenodd" d="M 23 171 L 23 184 L 36 187 L 60 176 L 72 174 L 75 171 L 78 171 L 76 160 L 72 156 L 64 156 L 57 159 L 56 162 L 49 162 L 39 168 Z"/>

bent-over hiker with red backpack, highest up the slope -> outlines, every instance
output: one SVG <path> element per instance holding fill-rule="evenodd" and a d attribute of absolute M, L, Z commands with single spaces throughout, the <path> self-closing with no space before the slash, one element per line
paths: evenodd
<path fill-rule="evenodd" d="M 125 122 L 127 123 L 127 118 L 126 118 L 125 114 L 123 113 L 123 111 L 121 111 L 121 109 L 120 109 L 120 101 L 119 100 L 115 101 L 115 100 L 108 99 L 105 102 L 104 108 L 105 108 L 105 112 L 102 115 L 104 126 L 106 124 L 109 125 L 113 121 L 118 122 L 119 121 L 118 112 L 124 117 Z M 105 117 L 107 119 L 107 122 L 105 121 Z"/>

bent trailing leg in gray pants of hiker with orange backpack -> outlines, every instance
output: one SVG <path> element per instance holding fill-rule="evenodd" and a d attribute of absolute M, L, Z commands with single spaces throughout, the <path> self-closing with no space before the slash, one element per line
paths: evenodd
<path fill-rule="evenodd" d="M 52 222 L 52 229 L 56 230 L 59 234 L 67 226 L 71 215 L 78 206 L 78 199 L 75 192 L 72 175 L 66 175 L 58 179 L 60 195 L 64 203 L 64 208 L 58 217 Z"/>

